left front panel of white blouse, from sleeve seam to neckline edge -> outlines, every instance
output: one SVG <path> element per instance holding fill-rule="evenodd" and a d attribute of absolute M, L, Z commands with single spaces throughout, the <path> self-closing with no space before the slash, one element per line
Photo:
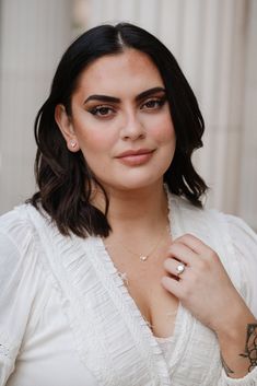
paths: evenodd
<path fill-rule="evenodd" d="M 162 351 L 150 339 L 139 311 L 135 307 L 131 313 L 131 297 L 124 294 L 124 282 L 100 239 L 63 237 L 34 208 L 28 211 L 46 247 L 46 264 L 61 294 L 80 358 L 98 383 L 171 385 Z"/>

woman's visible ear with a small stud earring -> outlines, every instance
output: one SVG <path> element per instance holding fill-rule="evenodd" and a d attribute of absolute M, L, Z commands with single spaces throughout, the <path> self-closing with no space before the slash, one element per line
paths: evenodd
<path fill-rule="evenodd" d="M 75 137 L 71 119 L 68 116 L 63 105 L 59 104 L 56 106 L 55 119 L 66 140 L 67 148 L 73 153 L 78 152 L 80 150 L 80 145 Z"/>

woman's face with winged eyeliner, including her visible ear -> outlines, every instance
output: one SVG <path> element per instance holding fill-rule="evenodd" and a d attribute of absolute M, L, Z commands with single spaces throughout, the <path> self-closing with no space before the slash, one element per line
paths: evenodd
<path fill-rule="evenodd" d="M 145 54 L 128 48 L 96 59 L 80 77 L 71 117 L 58 106 L 56 119 L 105 188 L 162 183 L 176 140 L 162 78 Z"/>

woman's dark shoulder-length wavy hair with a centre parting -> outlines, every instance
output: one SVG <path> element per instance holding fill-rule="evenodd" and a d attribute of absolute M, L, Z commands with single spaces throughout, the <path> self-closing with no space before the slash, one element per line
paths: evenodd
<path fill-rule="evenodd" d="M 63 235 L 72 232 L 81 237 L 87 234 L 105 237 L 110 226 L 107 195 L 87 167 L 81 151 L 68 151 L 55 120 L 55 108 L 62 104 L 67 114 L 71 114 L 71 96 L 85 67 L 105 55 L 122 52 L 127 47 L 147 54 L 165 85 L 176 133 L 176 150 L 164 182 L 174 195 L 184 196 L 194 206 L 202 206 L 200 199 L 207 185 L 196 173 L 191 154 L 202 147 L 205 122 L 176 59 L 156 37 L 138 26 L 128 23 L 100 25 L 82 34 L 67 49 L 54 77 L 50 95 L 35 120 L 38 147 L 35 174 L 39 191 L 28 201 L 37 209 L 42 206 Z M 105 213 L 91 203 L 92 182 L 105 195 Z"/>

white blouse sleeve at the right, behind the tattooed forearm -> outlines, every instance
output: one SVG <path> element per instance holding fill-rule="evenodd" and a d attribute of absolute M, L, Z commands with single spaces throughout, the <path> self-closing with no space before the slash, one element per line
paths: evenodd
<path fill-rule="evenodd" d="M 247 304 L 257 317 L 257 234 L 241 219 L 225 215 L 235 258 L 247 288 Z M 257 367 L 243 378 L 231 378 L 224 370 L 219 386 L 257 386 Z"/>

